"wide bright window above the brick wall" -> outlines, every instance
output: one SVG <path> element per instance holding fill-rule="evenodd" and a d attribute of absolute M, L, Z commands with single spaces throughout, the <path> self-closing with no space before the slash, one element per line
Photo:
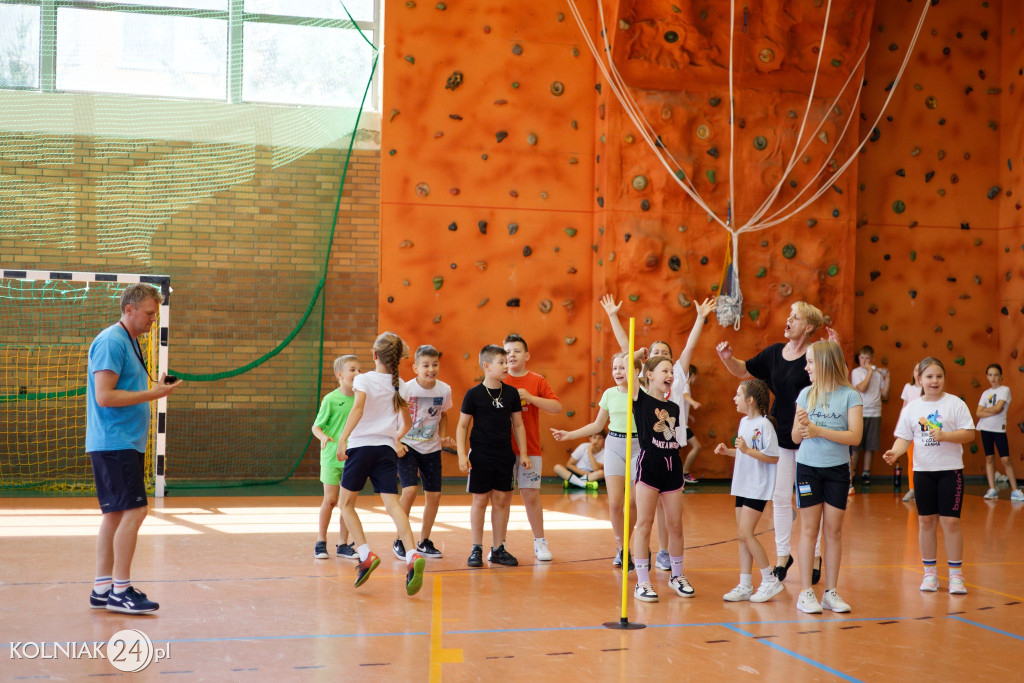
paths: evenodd
<path fill-rule="evenodd" d="M 358 106 L 379 12 L 380 0 L 0 0 L 0 88 Z"/>

